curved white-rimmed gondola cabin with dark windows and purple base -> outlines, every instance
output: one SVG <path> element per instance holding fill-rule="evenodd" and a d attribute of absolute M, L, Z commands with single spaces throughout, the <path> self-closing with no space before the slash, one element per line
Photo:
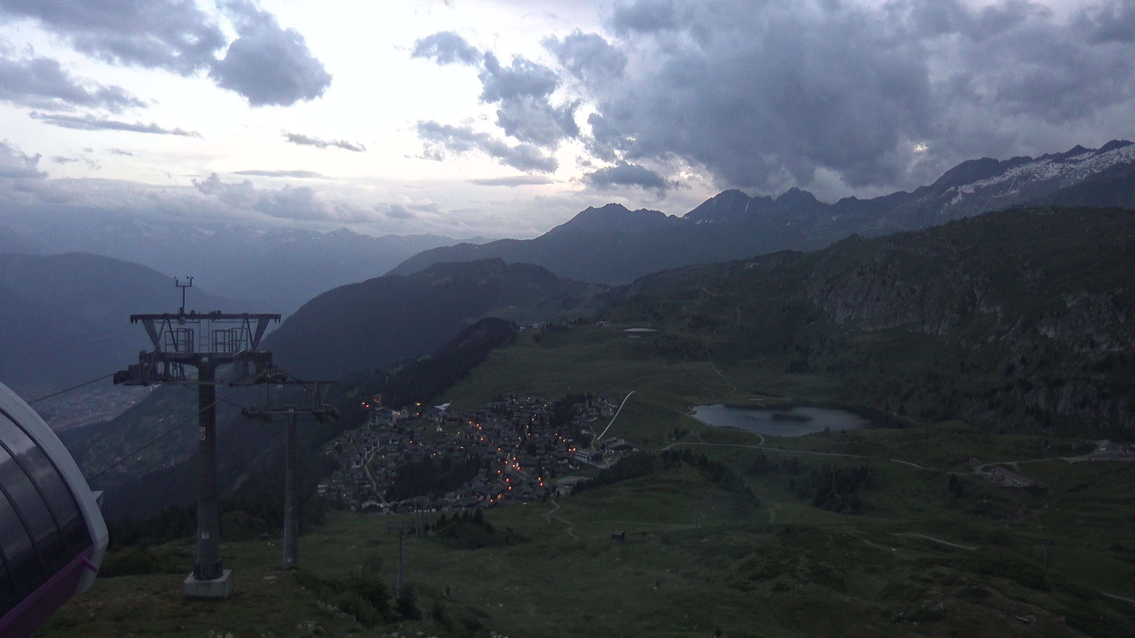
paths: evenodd
<path fill-rule="evenodd" d="M 0 384 L 0 636 L 24 638 L 91 588 L 107 523 L 75 460 Z"/>

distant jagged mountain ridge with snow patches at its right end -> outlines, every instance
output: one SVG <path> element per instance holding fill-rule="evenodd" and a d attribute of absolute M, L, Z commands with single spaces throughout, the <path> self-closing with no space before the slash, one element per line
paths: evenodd
<path fill-rule="evenodd" d="M 1135 144 L 1008 160 L 967 160 L 913 192 L 835 203 L 791 188 L 777 198 L 724 191 L 681 217 L 621 204 L 588 208 L 533 240 L 439 246 L 411 257 L 392 275 L 437 262 L 499 258 L 544 266 L 561 277 L 624 284 L 692 263 L 780 250 L 818 250 L 851 234 L 878 236 L 936 226 L 1023 204 L 1135 207 Z"/>

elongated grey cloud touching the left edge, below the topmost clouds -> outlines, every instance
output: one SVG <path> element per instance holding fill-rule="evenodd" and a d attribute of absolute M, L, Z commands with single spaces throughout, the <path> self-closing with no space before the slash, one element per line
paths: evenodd
<path fill-rule="evenodd" d="M 0 51 L 0 100 L 34 108 L 103 108 L 112 112 L 145 103 L 121 86 L 81 81 L 51 58 L 14 59 Z"/>

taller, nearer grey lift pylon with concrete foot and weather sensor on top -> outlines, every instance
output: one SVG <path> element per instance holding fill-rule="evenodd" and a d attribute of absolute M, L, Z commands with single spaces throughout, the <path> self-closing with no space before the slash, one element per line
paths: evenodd
<path fill-rule="evenodd" d="M 153 350 L 138 354 L 138 362 L 115 373 L 115 384 L 125 385 L 196 385 L 197 386 L 197 534 L 193 573 L 185 579 L 182 593 L 194 598 L 226 598 L 233 593 L 233 571 L 226 570 L 220 556 L 220 520 L 217 506 L 217 385 L 246 386 L 263 383 L 272 369 L 272 353 L 260 351 L 260 339 L 270 321 L 279 314 L 185 311 L 185 289 L 193 280 L 182 284 L 182 307 L 176 314 L 131 314 L 131 324 L 141 322 Z M 218 369 L 230 367 L 230 376 L 217 378 Z M 197 378 L 185 373 L 186 367 L 197 370 Z"/>

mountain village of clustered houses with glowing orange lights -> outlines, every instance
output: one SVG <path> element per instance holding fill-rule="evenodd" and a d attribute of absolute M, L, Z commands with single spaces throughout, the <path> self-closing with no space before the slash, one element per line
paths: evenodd
<path fill-rule="evenodd" d="M 380 396 L 363 406 L 367 422 L 323 446 L 339 469 L 319 482 L 317 495 L 364 513 L 540 502 L 570 489 L 573 481 L 564 477 L 571 470 L 605 467 L 611 456 L 637 450 L 617 438 L 592 450 L 595 429 L 602 431 L 617 409 L 607 396 L 571 405 L 498 397 L 466 412 L 448 403 L 394 410 Z"/>

